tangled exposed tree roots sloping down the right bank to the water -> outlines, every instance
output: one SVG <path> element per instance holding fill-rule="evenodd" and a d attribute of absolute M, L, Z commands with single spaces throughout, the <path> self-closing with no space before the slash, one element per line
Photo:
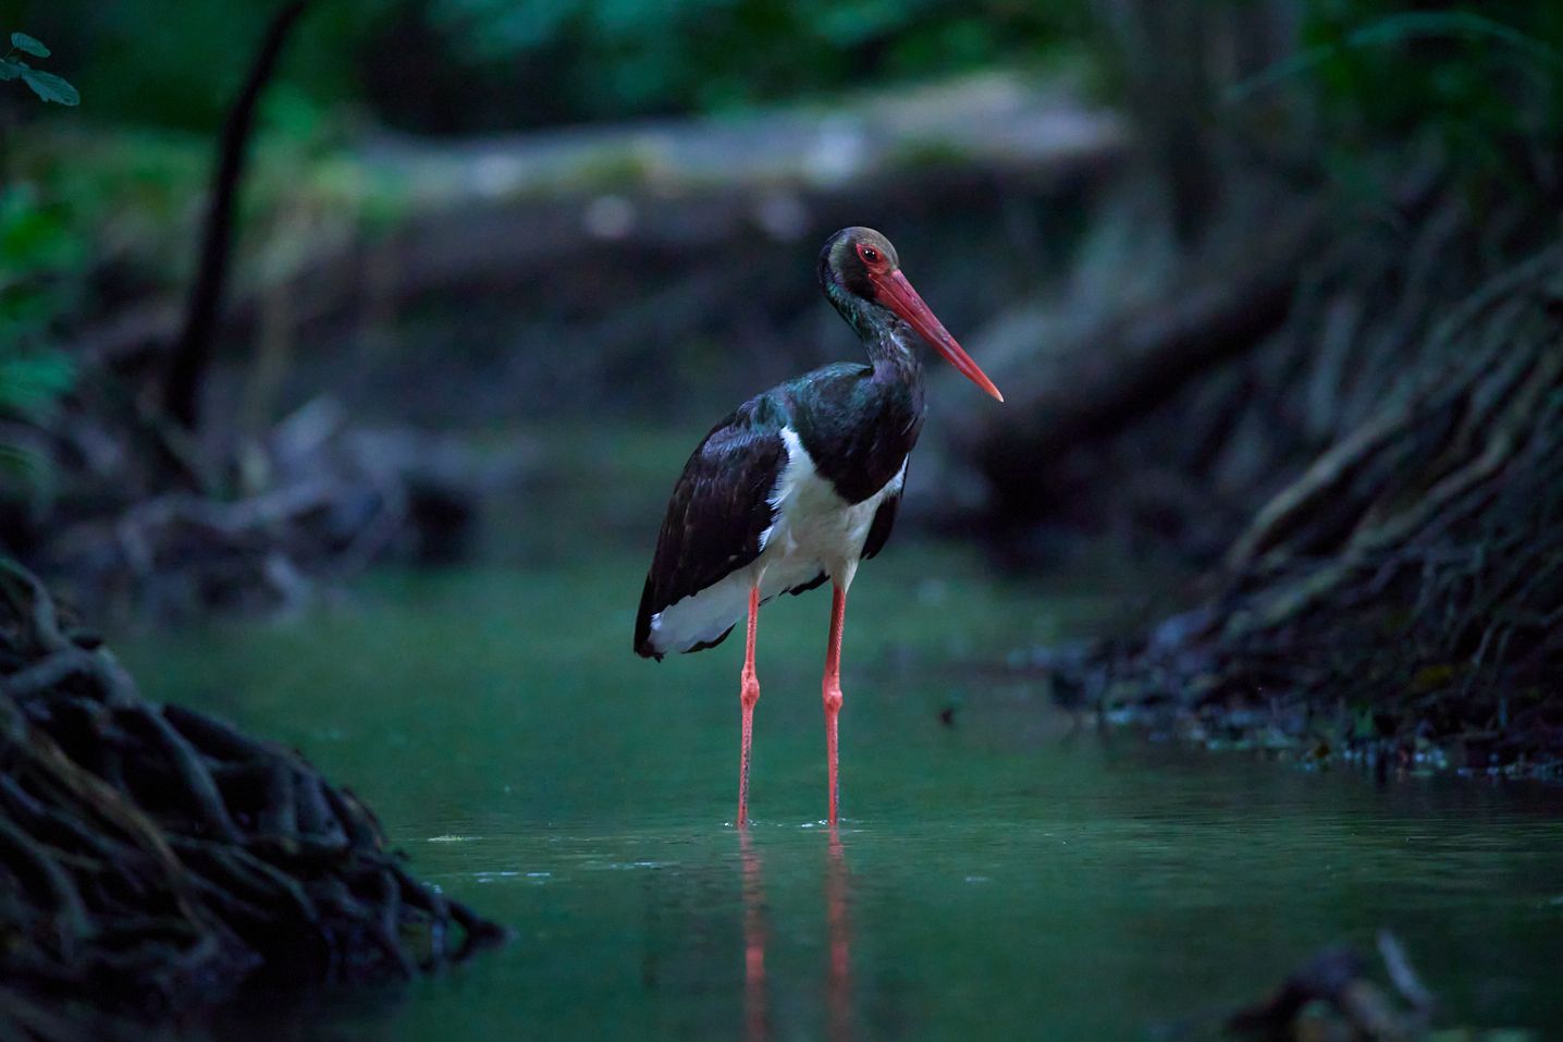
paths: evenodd
<path fill-rule="evenodd" d="M 1447 203 L 1410 250 L 1358 236 L 1332 257 L 1244 361 L 1282 388 L 1272 422 L 1321 451 L 1197 609 L 1088 651 L 1060 690 L 1179 710 L 1211 742 L 1563 762 L 1563 247 L 1494 272 L 1516 227 Z"/>

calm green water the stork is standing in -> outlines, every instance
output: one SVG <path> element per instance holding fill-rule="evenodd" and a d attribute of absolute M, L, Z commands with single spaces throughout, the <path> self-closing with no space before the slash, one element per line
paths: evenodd
<path fill-rule="evenodd" d="M 828 596 L 766 609 L 746 840 L 741 648 L 630 654 L 678 452 L 591 485 L 567 463 L 481 568 L 117 638 L 148 695 L 297 745 L 424 878 L 516 931 L 406 989 L 263 997 L 216 1034 L 1207 1037 L 1321 945 L 1390 928 L 1446 1023 L 1563 1037 L 1563 790 L 1377 787 L 1077 728 L 966 663 L 1074 632 L 1105 595 L 999 577 L 971 548 L 897 538 L 860 573 L 835 837 Z"/>

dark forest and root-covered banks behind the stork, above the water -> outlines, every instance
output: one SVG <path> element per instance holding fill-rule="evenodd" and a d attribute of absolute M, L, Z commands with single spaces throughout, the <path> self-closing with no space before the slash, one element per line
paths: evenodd
<path fill-rule="evenodd" d="M 1550 743 L 1554 3 L 5 13 L 81 103 L 0 97 L 0 540 L 89 612 L 472 552 L 536 430 L 850 354 L 808 272 L 863 222 L 1010 396 L 911 524 L 1189 576 L 1060 698 Z"/>

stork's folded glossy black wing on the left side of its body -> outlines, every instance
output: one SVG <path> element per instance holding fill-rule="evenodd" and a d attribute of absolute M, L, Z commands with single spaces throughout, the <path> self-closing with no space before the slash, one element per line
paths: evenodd
<path fill-rule="evenodd" d="M 636 654 L 661 657 L 650 643 L 653 615 L 760 557 L 760 537 L 772 521 L 769 496 L 786 465 L 783 422 L 775 402 L 756 397 L 713 427 L 689 457 L 646 573 Z"/>

